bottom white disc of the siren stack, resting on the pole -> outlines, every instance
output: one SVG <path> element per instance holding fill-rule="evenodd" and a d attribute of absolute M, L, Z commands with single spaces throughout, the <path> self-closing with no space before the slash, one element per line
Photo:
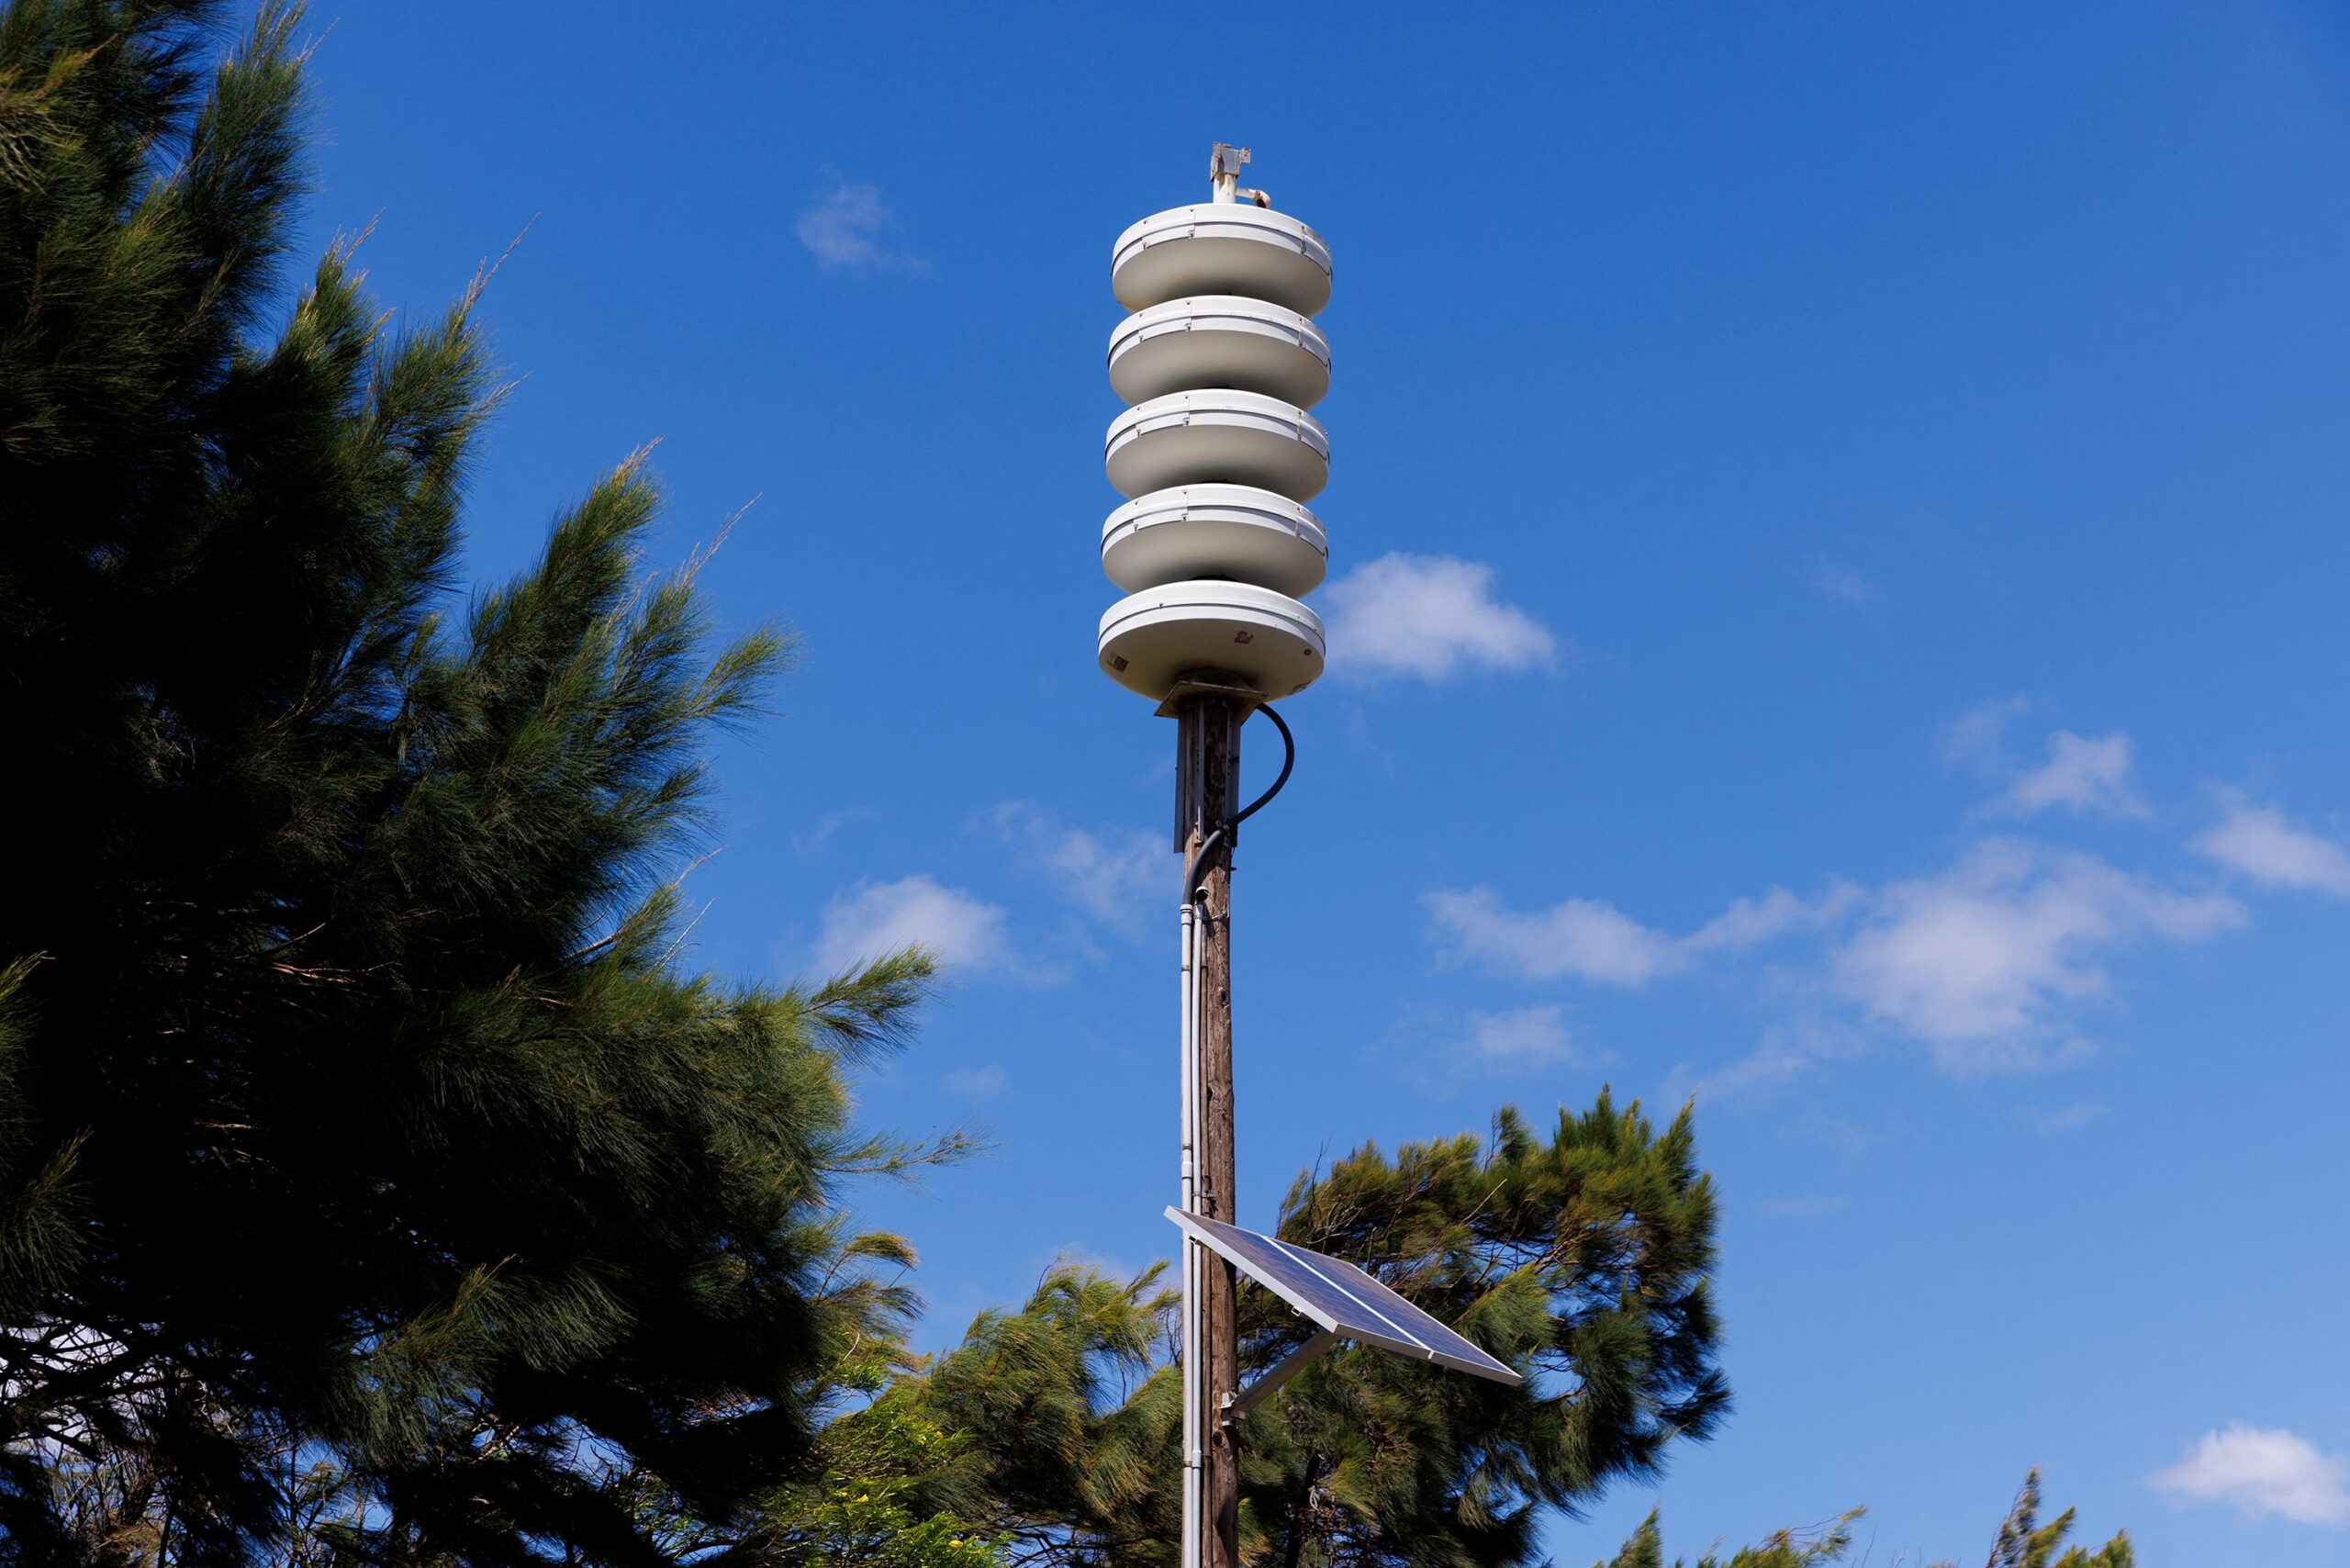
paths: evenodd
<path fill-rule="evenodd" d="M 1238 675 L 1269 698 L 1304 691 L 1323 670 L 1321 618 L 1250 583 L 1166 583 L 1128 595 L 1102 616 L 1095 646 L 1109 679 L 1152 701 L 1191 670 Z"/>

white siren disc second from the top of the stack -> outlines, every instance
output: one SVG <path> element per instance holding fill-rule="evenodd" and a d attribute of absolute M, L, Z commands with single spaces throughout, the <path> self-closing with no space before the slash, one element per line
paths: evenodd
<path fill-rule="evenodd" d="M 1311 409 L 1330 390 L 1330 341 L 1295 310 L 1238 294 L 1170 299 L 1109 334 L 1109 390 L 1126 402 L 1203 386 Z"/>

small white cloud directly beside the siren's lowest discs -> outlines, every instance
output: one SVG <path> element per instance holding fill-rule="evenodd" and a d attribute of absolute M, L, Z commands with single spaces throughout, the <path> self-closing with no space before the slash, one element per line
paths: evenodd
<path fill-rule="evenodd" d="M 1558 639 L 1492 597 L 1492 567 L 1450 555 L 1382 555 L 1330 583 L 1323 616 L 1330 668 L 1354 679 L 1429 684 L 1464 670 L 1537 670 Z"/>

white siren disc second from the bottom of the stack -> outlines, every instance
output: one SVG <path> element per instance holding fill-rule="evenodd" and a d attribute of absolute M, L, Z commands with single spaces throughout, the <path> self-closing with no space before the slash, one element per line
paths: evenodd
<path fill-rule="evenodd" d="M 1128 501 L 1102 522 L 1102 571 L 1126 592 L 1234 578 L 1297 599 L 1330 569 L 1321 520 L 1248 484 L 1184 484 Z"/>

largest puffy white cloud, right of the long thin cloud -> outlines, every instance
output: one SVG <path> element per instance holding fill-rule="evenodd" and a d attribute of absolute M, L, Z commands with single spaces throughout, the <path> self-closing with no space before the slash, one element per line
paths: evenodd
<path fill-rule="evenodd" d="M 1871 1016 L 1934 1041 L 1943 1065 L 2014 1065 L 1981 1046 L 2044 1037 L 2066 1004 L 2106 994 L 2099 954 L 2240 924 L 2232 898 L 2181 893 L 2096 856 L 1986 839 L 1948 872 L 1882 889 L 1833 971 Z"/>

